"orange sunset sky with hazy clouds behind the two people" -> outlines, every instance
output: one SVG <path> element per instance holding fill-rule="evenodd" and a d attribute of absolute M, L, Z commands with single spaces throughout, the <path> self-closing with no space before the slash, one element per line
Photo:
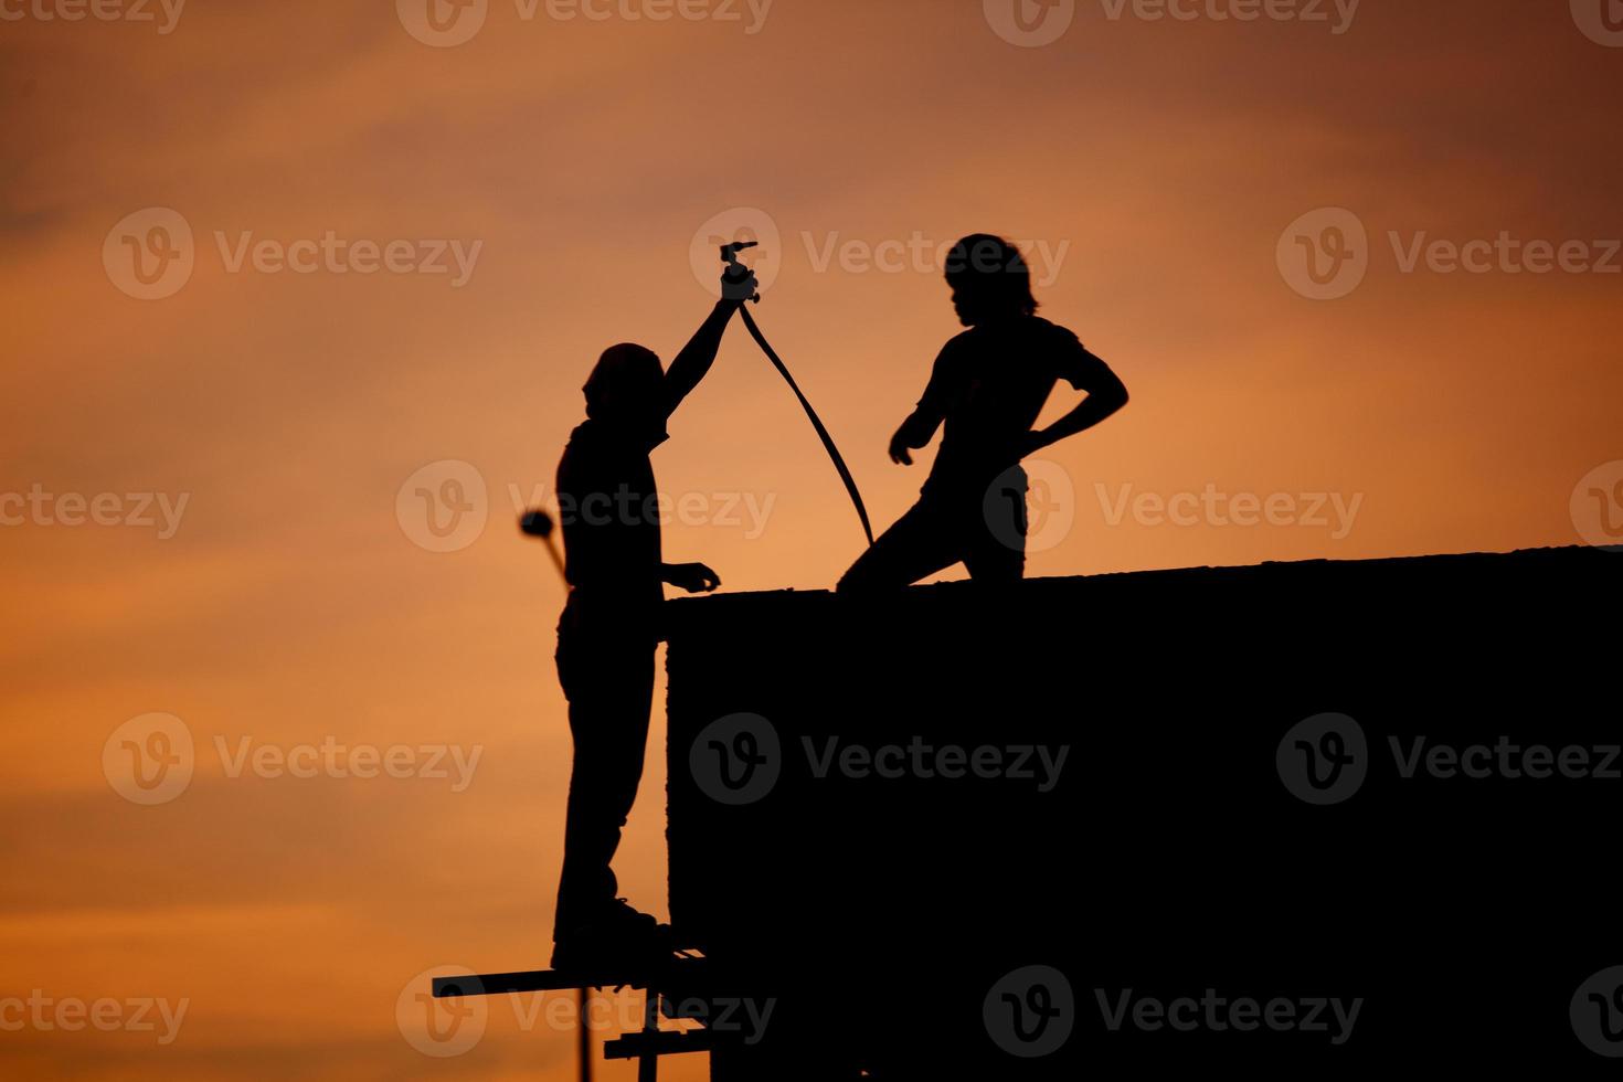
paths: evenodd
<path fill-rule="evenodd" d="M 412 996 L 547 960 L 563 599 L 513 513 L 596 355 L 698 326 L 712 235 L 764 234 L 755 313 L 878 527 L 974 230 L 1133 393 L 1032 467 L 1032 576 L 1610 522 L 1615 0 L 133 3 L 0 0 L 6 1077 L 571 1077 L 547 1004 L 432 1056 Z M 857 556 L 740 326 L 670 432 L 667 560 L 751 590 Z M 659 702 L 618 868 L 664 913 Z M 183 788 L 131 788 L 123 741 L 177 732 Z"/>

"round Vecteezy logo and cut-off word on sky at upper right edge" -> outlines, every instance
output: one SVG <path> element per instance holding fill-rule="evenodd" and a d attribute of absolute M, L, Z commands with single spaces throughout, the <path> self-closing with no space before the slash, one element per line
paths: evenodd
<path fill-rule="evenodd" d="M 1623 274 L 1623 240 L 1527 240 L 1508 229 L 1464 242 L 1394 229 L 1386 240 L 1399 274 Z M 1371 255 L 1363 221 L 1342 208 L 1303 214 L 1276 251 L 1281 276 L 1310 300 L 1349 295 L 1363 282 Z"/>

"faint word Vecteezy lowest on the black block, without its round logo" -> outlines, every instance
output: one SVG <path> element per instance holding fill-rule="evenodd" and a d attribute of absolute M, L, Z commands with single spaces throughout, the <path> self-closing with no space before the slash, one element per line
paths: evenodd
<path fill-rule="evenodd" d="M 1125 1025 L 1147 1033 L 1159 1030 L 1248 1033 L 1268 1028 L 1276 1033 L 1326 1033 L 1329 1043 L 1337 1046 L 1352 1040 L 1358 1012 L 1363 1011 L 1362 998 L 1345 1003 L 1339 998 L 1276 996 L 1263 1003 L 1248 996 L 1227 999 L 1219 996 L 1216 988 L 1208 988 L 1199 999 L 1193 996 L 1180 996 L 1172 1001 L 1152 996 L 1134 998 L 1131 988 L 1115 993 L 1096 988 L 1094 998 L 1099 1001 L 1099 1014 L 1104 1015 L 1105 1028 L 1112 1033 L 1118 1033 Z"/>

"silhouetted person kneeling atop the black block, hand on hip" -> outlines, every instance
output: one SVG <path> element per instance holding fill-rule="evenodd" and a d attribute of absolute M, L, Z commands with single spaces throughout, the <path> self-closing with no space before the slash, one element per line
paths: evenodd
<path fill-rule="evenodd" d="M 962 561 L 977 581 L 1026 571 L 1026 472 L 1019 462 L 1092 428 L 1123 406 L 1126 386 L 1076 336 L 1037 316 L 1031 271 L 1014 245 L 975 234 L 946 261 L 953 307 L 969 329 L 936 357 L 919 409 L 891 436 L 891 461 L 912 466 L 946 423 L 919 503 L 839 581 L 844 594 L 894 589 Z M 1032 432 L 1058 380 L 1087 397 Z"/>

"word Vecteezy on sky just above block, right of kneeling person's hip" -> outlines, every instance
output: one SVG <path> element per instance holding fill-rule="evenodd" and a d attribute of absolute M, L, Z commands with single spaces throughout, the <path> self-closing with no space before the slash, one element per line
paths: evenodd
<path fill-rule="evenodd" d="M 1115 493 L 1102 482 L 1094 483 L 1099 509 L 1107 526 L 1120 526 L 1130 514 L 1138 526 L 1256 526 L 1326 529 L 1331 540 L 1344 540 L 1363 508 L 1363 493 L 1341 492 L 1255 492 L 1229 493 L 1208 483 L 1201 492 L 1133 492 L 1120 485 Z"/>

